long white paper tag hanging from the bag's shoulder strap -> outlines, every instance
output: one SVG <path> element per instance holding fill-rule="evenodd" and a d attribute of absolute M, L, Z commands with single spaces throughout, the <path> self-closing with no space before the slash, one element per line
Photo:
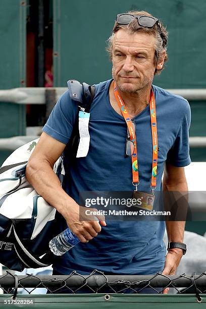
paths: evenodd
<path fill-rule="evenodd" d="M 77 158 L 86 157 L 89 151 L 89 113 L 79 112 L 79 147 L 77 150 Z"/>

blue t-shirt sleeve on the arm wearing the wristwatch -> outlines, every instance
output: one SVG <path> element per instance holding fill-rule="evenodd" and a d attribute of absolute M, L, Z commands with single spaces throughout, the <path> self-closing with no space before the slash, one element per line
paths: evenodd
<path fill-rule="evenodd" d="M 189 156 L 189 127 L 191 122 L 191 111 L 188 101 L 184 115 L 181 120 L 179 131 L 173 146 L 168 151 L 167 162 L 176 166 L 184 167 L 191 163 Z"/>

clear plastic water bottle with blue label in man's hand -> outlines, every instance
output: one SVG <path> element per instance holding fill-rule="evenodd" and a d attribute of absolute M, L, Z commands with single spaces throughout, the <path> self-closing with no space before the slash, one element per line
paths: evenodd
<path fill-rule="evenodd" d="M 68 228 L 49 241 L 49 248 L 55 255 L 63 255 L 79 242 L 79 238 Z"/>

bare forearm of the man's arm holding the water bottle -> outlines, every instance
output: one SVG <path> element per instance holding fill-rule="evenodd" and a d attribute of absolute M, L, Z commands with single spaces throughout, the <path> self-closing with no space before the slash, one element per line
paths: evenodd
<path fill-rule="evenodd" d="M 38 164 L 34 161 L 28 163 L 26 178 L 38 194 L 62 215 L 69 204 L 71 206 L 76 204 L 74 199 L 62 189 L 59 178 L 48 162 L 38 160 Z"/>

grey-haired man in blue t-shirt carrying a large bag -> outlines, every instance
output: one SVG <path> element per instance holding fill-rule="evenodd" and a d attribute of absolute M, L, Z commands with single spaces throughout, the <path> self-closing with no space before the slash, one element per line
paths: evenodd
<path fill-rule="evenodd" d="M 97 221 L 79 221 L 82 191 L 187 191 L 184 166 L 191 162 L 189 104 L 152 85 L 154 75 L 161 73 L 167 60 L 167 32 L 147 12 L 128 14 L 118 16 L 109 39 L 113 79 L 96 85 L 87 156 L 77 158 L 71 165 L 65 151 L 77 111 L 66 91 L 44 126 L 27 165 L 27 179 L 62 214 L 81 241 L 55 258 L 53 274 L 70 274 L 73 270 L 89 274 L 97 269 L 105 274 L 174 275 L 183 255 L 179 247 L 169 249 L 166 255 L 165 222 L 107 221 L 106 226 L 99 217 L 100 226 Z M 156 111 L 151 109 L 152 104 Z M 136 146 L 132 156 L 125 156 L 127 130 L 130 137 L 132 134 L 131 120 L 136 125 Z M 67 167 L 64 190 L 53 172 L 63 151 Z M 170 242 L 183 242 L 184 224 L 166 223 Z"/>

